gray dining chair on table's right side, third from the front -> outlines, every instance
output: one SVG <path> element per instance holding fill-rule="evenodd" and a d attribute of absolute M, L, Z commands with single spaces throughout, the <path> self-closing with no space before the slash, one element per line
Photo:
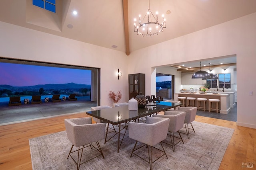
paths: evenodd
<path fill-rule="evenodd" d="M 186 128 L 186 134 L 188 135 L 188 139 L 189 139 L 189 135 L 190 133 L 192 133 L 194 130 L 194 127 L 192 125 L 192 121 L 194 121 L 196 119 L 196 111 L 197 111 L 197 107 L 177 107 L 176 111 L 185 111 L 186 112 L 186 117 L 184 120 L 184 124 L 185 124 L 185 128 Z M 188 127 L 188 124 L 191 125 L 191 127 Z M 189 132 L 189 129 L 192 130 Z"/>

